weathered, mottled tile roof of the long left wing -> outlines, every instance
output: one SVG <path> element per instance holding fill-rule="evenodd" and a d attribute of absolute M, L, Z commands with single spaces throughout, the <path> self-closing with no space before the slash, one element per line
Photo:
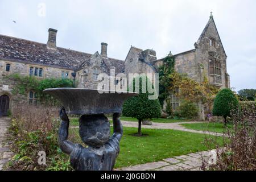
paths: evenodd
<path fill-rule="evenodd" d="M 56 47 L 47 48 L 46 44 L 32 42 L 10 36 L 0 35 L 0 59 L 50 67 L 79 69 L 92 54 Z M 123 61 L 109 58 L 106 65 L 122 71 Z"/>

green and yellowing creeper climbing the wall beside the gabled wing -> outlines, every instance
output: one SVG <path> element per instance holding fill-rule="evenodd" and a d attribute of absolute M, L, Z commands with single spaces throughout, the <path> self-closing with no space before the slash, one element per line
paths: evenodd
<path fill-rule="evenodd" d="M 179 90 L 179 92 L 176 92 L 176 90 Z M 203 82 L 197 82 L 186 74 L 175 71 L 175 59 L 173 56 L 168 55 L 163 59 L 163 64 L 159 68 L 159 101 L 162 106 L 172 92 L 181 100 L 195 103 L 201 102 L 210 108 L 218 90 L 218 88 L 209 84 L 205 73 Z M 170 103 L 167 101 L 167 110 L 172 110 L 168 107 L 170 107 Z"/>

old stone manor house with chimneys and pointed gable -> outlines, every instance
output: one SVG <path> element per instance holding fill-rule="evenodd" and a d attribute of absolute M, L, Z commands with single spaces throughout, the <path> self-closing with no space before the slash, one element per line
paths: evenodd
<path fill-rule="evenodd" d="M 140 49 L 131 46 L 126 59 L 118 60 L 108 57 L 108 44 L 101 43 L 101 53 L 93 54 L 73 51 L 56 46 L 57 30 L 49 28 L 47 44 L 32 42 L 0 35 L 0 116 L 15 105 L 16 96 L 11 90 L 15 83 L 3 79 L 12 73 L 40 78 L 71 78 L 77 87 L 97 89 L 97 77 L 100 73 L 157 73 L 162 60 L 158 60 L 152 49 Z M 178 53 L 175 57 L 175 69 L 197 81 L 202 81 L 207 74 L 210 84 L 219 88 L 230 88 L 226 68 L 226 53 L 221 43 L 212 14 L 195 48 Z M 118 84 L 118 82 L 115 82 Z M 27 102 L 36 100 L 33 90 L 27 93 Z M 170 97 L 172 108 L 179 106 L 179 99 Z M 201 108 L 204 118 L 204 108 Z"/>

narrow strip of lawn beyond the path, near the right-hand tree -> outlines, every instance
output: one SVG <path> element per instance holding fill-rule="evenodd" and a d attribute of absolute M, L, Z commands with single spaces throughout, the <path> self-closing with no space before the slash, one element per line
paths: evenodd
<path fill-rule="evenodd" d="M 226 127 L 224 123 L 210 122 L 210 123 L 193 123 L 193 124 L 181 124 L 187 129 L 199 130 L 199 131 L 211 131 L 216 133 L 224 133 L 228 129 L 232 129 L 233 125 L 228 124 Z"/>

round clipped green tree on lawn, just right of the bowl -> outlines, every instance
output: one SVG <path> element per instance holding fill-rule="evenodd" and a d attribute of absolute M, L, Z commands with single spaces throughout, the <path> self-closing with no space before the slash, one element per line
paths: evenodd
<path fill-rule="evenodd" d="M 139 96 L 132 97 L 129 100 L 127 100 L 123 104 L 123 115 L 126 117 L 133 117 L 137 118 L 139 122 L 138 126 L 138 136 L 142 136 L 141 132 L 141 123 L 143 119 L 152 119 L 152 118 L 158 118 L 161 115 L 161 106 L 158 99 L 156 100 L 149 100 L 148 96 L 152 95 L 148 93 L 147 85 L 152 83 L 148 80 L 147 77 L 139 77 L 134 78 L 133 84 L 129 86 L 128 91 L 134 92 L 136 91 L 135 80 L 139 81 Z M 146 84 L 142 84 L 142 80 L 146 80 Z M 133 86 L 133 87 L 131 87 Z M 145 88 L 146 87 L 146 88 Z M 152 86 L 153 88 L 153 86 Z M 146 93 L 143 93 L 142 91 L 146 90 Z"/>

